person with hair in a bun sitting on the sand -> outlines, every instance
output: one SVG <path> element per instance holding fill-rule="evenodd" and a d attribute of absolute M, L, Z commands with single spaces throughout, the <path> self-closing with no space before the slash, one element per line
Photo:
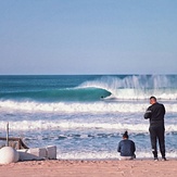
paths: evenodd
<path fill-rule="evenodd" d="M 128 132 L 125 131 L 123 140 L 119 141 L 117 151 L 121 153 L 119 160 L 134 160 L 136 159 L 136 146 L 132 140 L 128 139 Z"/>

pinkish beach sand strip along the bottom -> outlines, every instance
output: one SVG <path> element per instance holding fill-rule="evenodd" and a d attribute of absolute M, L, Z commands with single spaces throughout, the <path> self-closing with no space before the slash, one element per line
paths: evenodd
<path fill-rule="evenodd" d="M 175 177 L 177 160 L 26 161 L 0 165 L 1 177 Z"/>

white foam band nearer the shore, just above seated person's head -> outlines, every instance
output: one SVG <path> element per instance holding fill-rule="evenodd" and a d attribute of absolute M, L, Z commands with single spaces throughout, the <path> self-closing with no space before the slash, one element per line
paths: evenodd
<path fill-rule="evenodd" d="M 0 122 L 0 129 L 5 130 L 7 122 Z M 10 130 L 109 130 L 109 131 L 124 131 L 130 132 L 149 132 L 149 123 L 146 124 L 125 124 L 125 123 L 88 123 L 74 121 L 16 121 L 9 122 Z M 177 131 L 177 125 L 165 125 L 165 131 Z"/>

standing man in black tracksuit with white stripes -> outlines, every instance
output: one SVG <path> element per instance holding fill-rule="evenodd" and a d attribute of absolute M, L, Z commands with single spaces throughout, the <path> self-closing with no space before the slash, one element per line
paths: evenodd
<path fill-rule="evenodd" d="M 150 106 L 148 108 L 144 118 L 150 119 L 150 138 L 151 138 L 151 147 L 152 153 L 154 155 L 154 161 L 159 161 L 157 159 L 157 148 L 156 148 L 156 140 L 159 140 L 160 151 L 162 154 L 162 160 L 166 161 L 165 157 L 165 126 L 164 126 L 164 115 L 165 115 L 165 108 L 163 104 L 156 102 L 155 97 L 150 98 Z"/>

